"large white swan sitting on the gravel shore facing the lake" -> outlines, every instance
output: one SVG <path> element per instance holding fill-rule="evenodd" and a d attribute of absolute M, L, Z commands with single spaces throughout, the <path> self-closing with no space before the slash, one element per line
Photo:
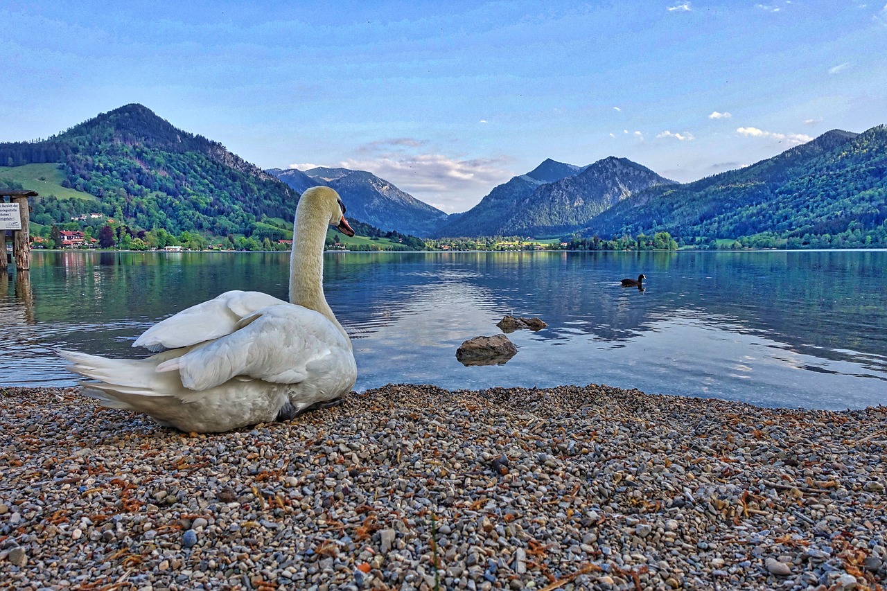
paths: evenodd
<path fill-rule="evenodd" d="M 84 395 L 188 432 L 286 421 L 311 406 L 329 406 L 357 379 L 351 341 L 323 290 L 327 225 L 354 235 L 344 214 L 333 189 L 312 187 L 302 194 L 290 302 L 229 291 L 162 320 L 133 343 L 169 351 L 146 359 L 59 354 L 71 371 L 90 378 L 80 382 Z"/>

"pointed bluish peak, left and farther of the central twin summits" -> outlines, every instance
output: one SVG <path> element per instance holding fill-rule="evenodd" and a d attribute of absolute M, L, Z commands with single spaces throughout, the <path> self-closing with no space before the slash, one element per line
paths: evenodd
<path fill-rule="evenodd" d="M 516 204 L 529 197 L 539 186 L 576 175 L 583 168 L 575 164 L 555 162 L 550 158 L 525 175 L 512 177 L 502 185 L 493 187 L 480 203 L 460 214 L 451 215 L 446 224 L 435 232 L 436 236 L 492 236 L 500 232 L 502 222 L 514 212 Z"/>

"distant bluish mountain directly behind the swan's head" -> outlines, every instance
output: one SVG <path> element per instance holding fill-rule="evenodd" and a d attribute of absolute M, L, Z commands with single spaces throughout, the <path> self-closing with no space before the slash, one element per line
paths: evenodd
<path fill-rule="evenodd" d="M 430 236 L 447 215 L 409 193 L 404 193 L 384 178 L 365 170 L 318 167 L 304 172 L 297 169 L 269 169 L 297 191 L 313 185 L 333 187 L 354 217 L 381 230 L 414 236 Z"/>

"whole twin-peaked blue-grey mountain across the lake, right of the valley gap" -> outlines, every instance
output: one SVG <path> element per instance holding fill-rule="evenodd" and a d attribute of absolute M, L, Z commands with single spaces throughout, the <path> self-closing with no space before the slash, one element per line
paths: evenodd
<path fill-rule="evenodd" d="M 441 236 L 531 235 L 574 232 L 633 193 L 673 185 L 652 170 L 610 156 L 585 167 L 546 160 L 526 175 L 498 185 Z"/>

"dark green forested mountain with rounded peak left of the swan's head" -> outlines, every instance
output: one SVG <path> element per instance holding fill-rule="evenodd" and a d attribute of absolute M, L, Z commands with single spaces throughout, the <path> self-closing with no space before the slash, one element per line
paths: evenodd
<path fill-rule="evenodd" d="M 0 144 L 0 164 L 40 162 L 59 162 L 63 186 L 95 195 L 95 209 L 143 230 L 248 236 L 263 216 L 292 219 L 298 201 L 290 187 L 218 142 L 135 104 L 49 139 Z"/>

